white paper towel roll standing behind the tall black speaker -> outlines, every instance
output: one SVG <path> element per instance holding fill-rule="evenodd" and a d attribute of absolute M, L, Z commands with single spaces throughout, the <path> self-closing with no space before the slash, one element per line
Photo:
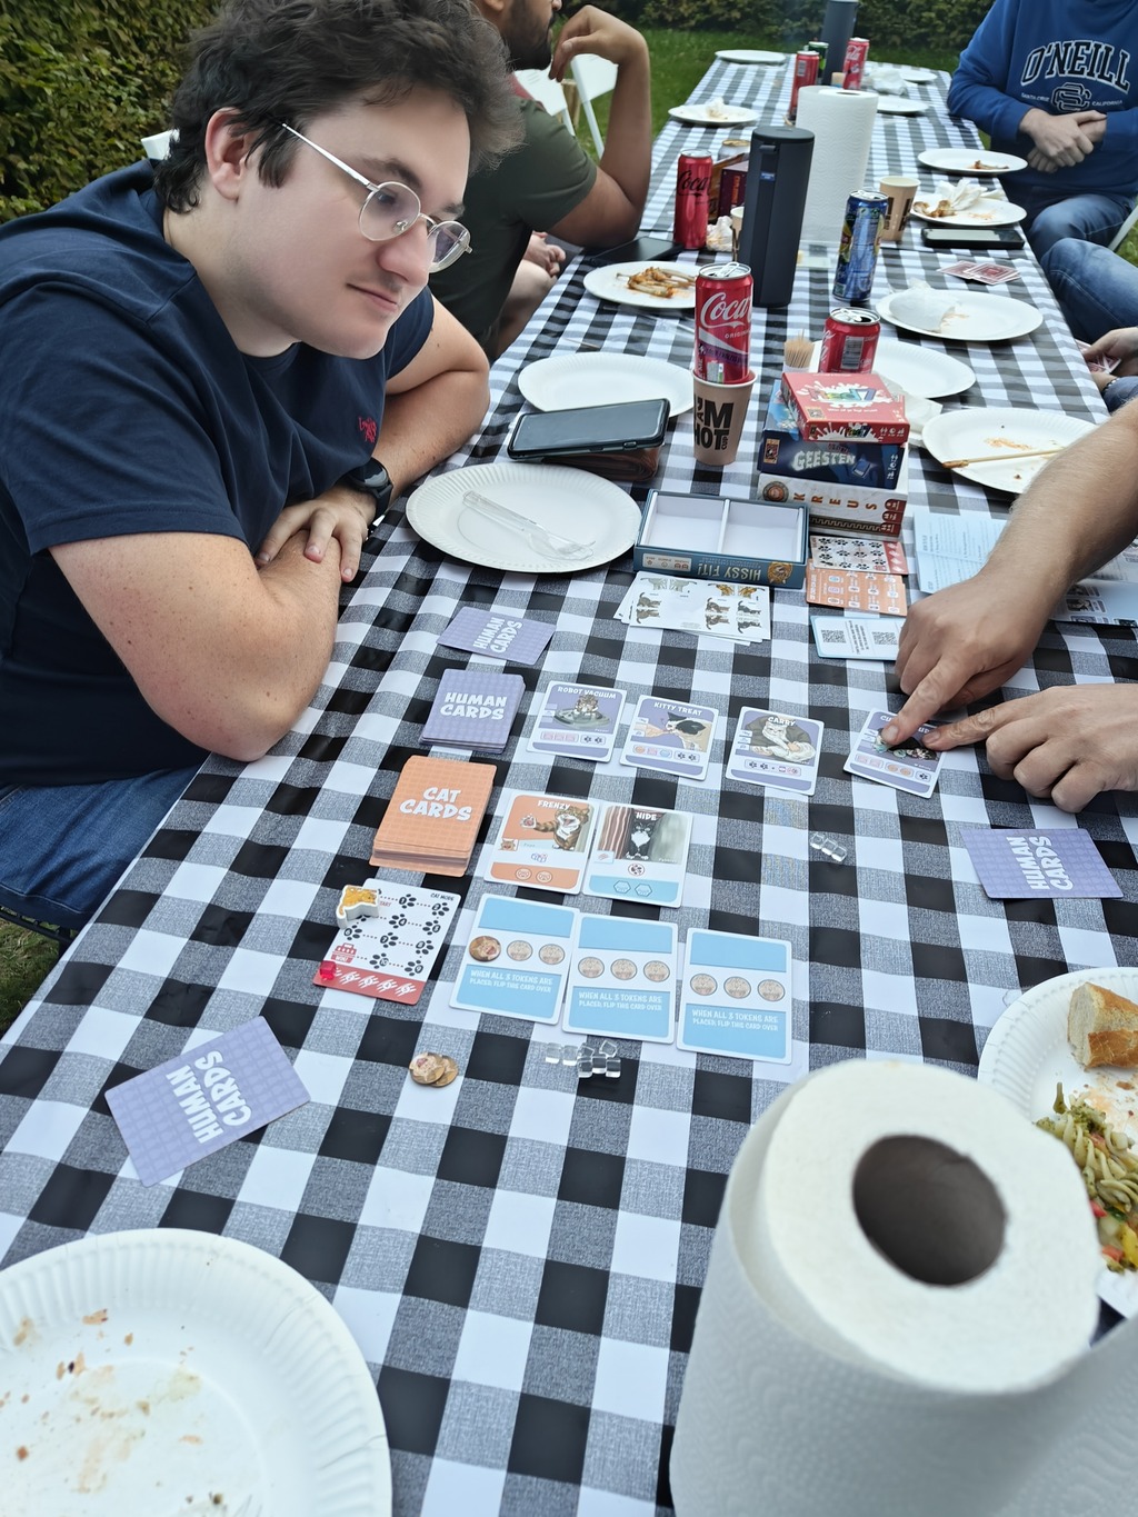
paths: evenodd
<path fill-rule="evenodd" d="M 845 202 L 866 185 L 876 118 L 877 96 L 871 90 L 807 85 L 798 91 L 795 124 L 815 135 L 803 243 L 838 244 Z"/>

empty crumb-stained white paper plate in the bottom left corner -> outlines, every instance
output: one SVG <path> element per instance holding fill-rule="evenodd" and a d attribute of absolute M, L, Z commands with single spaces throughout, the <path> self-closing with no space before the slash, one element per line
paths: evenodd
<path fill-rule="evenodd" d="M 259 1248 L 178 1229 L 49 1248 L 0 1274 L 0 1343 L 6 1512 L 391 1511 L 360 1349 Z"/>

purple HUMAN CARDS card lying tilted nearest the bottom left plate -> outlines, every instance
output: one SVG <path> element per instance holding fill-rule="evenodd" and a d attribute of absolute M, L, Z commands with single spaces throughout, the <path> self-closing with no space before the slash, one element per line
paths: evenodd
<path fill-rule="evenodd" d="M 262 1016 L 106 1092 L 143 1185 L 168 1180 L 307 1100 L 308 1091 Z"/>

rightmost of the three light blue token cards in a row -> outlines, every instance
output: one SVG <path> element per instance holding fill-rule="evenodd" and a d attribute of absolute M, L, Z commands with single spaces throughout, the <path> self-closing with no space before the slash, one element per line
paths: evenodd
<path fill-rule="evenodd" d="M 789 1063 L 787 942 L 742 933 L 687 934 L 677 1047 L 728 1059 Z"/>

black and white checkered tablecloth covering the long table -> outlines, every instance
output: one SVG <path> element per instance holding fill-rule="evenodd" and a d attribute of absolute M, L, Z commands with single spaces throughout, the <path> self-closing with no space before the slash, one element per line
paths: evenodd
<path fill-rule="evenodd" d="M 784 70 L 715 64 L 695 99 L 756 99 L 774 111 L 784 91 Z M 874 129 L 871 181 L 910 168 L 923 146 L 976 146 L 942 114 L 941 86 L 918 94 L 933 102 L 927 115 Z M 680 149 L 718 135 L 666 127 L 645 226 L 671 225 Z M 883 253 L 877 291 L 935 278 L 947 261 L 909 234 Z M 1100 419 L 1036 264 L 1020 256 L 1017 267 L 1023 281 L 994 299 L 1032 300 L 1044 325 L 967 355 L 948 344 L 977 373 L 948 405 L 983 397 Z M 763 384 L 777 376 L 787 332 L 821 331 L 828 281 L 803 272 L 789 311 L 756 313 Z M 567 272 L 496 364 L 486 428 L 449 466 L 498 455 L 522 405 L 522 364 L 586 343 L 686 364 L 692 338 L 675 319 L 598 303 L 580 269 Z M 751 482 L 754 454 L 753 420 L 728 484 Z M 989 501 L 920 454 L 915 464 L 916 502 L 1004 508 L 1004 498 Z M 686 419 L 660 478 L 721 487 L 718 473 L 695 467 Z M 1048 806 L 994 778 L 971 749 L 948 755 L 932 799 L 851 780 L 842 763 L 853 734 L 869 708 L 897 702 L 888 667 L 819 660 L 798 592 L 774 595 L 772 640 L 753 648 L 625 628 L 611 611 L 630 575 L 628 560 L 564 579 L 473 569 L 419 542 L 396 511 L 346 596 L 328 678 L 296 731 L 259 763 L 205 766 L 0 1062 L 0 1258 L 88 1232 L 178 1226 L 225 1232 L 294 1265 L 375 1370 L 402 1517 L 669 1509 L 671 1429 L 724 1182 L 781 1083 L 862 1056 L 973 1071 L 1009 991 L 1073 966 L 1138 962 L 1132 798 L 1102 799 L 1080 819 L 1123 900 L 989 901 L 973 883 L 962 828 L 1042 827 L 1056 816 Z M 440 674 L 463 661 L 437 636 L 472 604 L 554 623 L 542 664 L 520 671 L 530 690 L 584 678 L 721 708 L 706 784 L 533 755 L 522 748 L 528 719 L 498 760 L 499 780 L 692 812 L 681 931 L 710 924 L 789 939 L 789 1068 L 625 1044 L 619 1080 L 578 1086 L 545 1062 L 548 1033 L 531 1039 L 527 1022 L 451 1010 L 454 944 L 486 890 L 473 877 L 458 881 L 464 909 L 419 1007 L 313 986 L 337 892 L 367 875 L 372 833 L 419 749 Z M 1048 628 L 1014 686 L 1136 675 L 1130 631 L 1065 623 Z M 825 722 L 812 799 L 722 783 L 724 737 L 743 704 Z M 850 860 L 812 856 L 815 830 L 845 842 Z M 179 1183 L 143 1188 L 106 1088 L 256 1015 L 311 1101 Z M 429 1103 L 407 1077 L 420 1048 L 454 1053 L 464 1076 Z"/>

